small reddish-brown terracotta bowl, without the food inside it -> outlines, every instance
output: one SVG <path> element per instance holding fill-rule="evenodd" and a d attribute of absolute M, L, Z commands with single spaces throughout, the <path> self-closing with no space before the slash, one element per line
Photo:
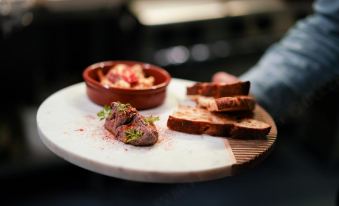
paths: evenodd
<path fill-rule="evenodd" d="M 99 82 L 98 70 L 106 72 L 116 64 L 129 66 L 139 64 L 142 66 L 145 76 L 153 76 L 155 84 L 148 89 L 126 89 L 118 87 L 106 88 Z M 171 76 L 166 70 L 155 65 L 136 61 L 105 61 L 87 67 L 83 72 L 86 82 L 87 95 L 96 104 L 109 105 L 113 101 L 130 103 L 137 109 L 150 109 L 161 105 L 166 97 L 166 88 Z"/>

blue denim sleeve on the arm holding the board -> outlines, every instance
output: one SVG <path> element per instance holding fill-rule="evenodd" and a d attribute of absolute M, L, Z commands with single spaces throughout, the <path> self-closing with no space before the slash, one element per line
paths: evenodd
<path fill-rule="evenodd" d="M 339 75 L 339 1 L 319 0 L 313 8 L 240 77 L 251 81 L 252 95 L 277 120 L 296 115 Z"/>

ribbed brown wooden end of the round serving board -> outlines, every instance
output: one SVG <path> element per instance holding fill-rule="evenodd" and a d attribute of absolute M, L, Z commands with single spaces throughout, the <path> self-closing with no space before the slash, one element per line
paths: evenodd
<path fill-rule="evenodd" d="M 254 110 L 254 118 L 272 126 L 270 133 L 263 139 L 228 138 L 236 163 L 232 166 L 232 174 L 254 167 L 272 150 L 277 138 L 277 127 L 272 117 L 259 105 Z"/>

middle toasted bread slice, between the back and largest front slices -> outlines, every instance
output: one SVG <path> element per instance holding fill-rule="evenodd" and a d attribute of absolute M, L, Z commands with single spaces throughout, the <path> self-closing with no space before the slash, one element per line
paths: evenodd
<path fill-rule="evenodd" d="M 210 112 L 233 112 L 233 111 L 252 111 L 255 107 L 255 100 L 250 96 L 235 97 L 204 97 L 196 96 L 194 98 L 198 106 L 206 108 Z"/>

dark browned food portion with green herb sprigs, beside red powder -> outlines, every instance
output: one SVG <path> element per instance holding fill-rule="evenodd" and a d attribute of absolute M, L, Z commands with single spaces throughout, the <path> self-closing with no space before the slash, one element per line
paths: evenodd
<path fill-rule="evenodd" d="M 152 121 L 142 116 L 129 104 L 113 102 L 105 128 L 118 140 L 135 146 L 153 145 L 158 140 L 158 131 Z"/>

